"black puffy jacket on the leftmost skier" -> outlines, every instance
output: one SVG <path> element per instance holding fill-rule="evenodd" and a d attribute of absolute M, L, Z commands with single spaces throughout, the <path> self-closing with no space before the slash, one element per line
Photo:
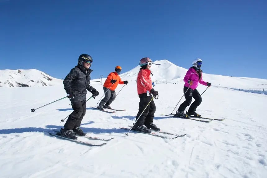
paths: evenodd
<path fill-rule="evenodd" d="M 90 73 L 92 71 L 91 69 L 85 69 L 82 65 L 77 65 L 70 70 L 70 73 L 64 79 L 64 89 L 67 93 L 74 93 L 75 102 L 86 100 L 86 89 L 90 92 L 94 89 L 90 85 Z"/>

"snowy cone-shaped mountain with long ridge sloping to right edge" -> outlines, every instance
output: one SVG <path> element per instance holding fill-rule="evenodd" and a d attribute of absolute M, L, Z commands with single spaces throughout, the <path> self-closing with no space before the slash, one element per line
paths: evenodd
<path fill-rule="evenodd" d="M 188 66 L 188 69 L 191 66 Z M 156 83 L 183 83 L 183 78 L 188 69 L 179 67 L 168 60 L 156 60 L 153 62 L 151 71 L 151 79 Z M 122 80 L 128 80 L 129 82 L 135 82 L 140 66 L 136 66 L 125 73 L 120 74 Z M 248 77 L 231 77 L 215 74 L 205 73 L 205 66 L 202 67 L 203 80 L 211 82 L 213 86 L 217 87 L 229 87 L 229 88 L 253 88 L 262 89 L 267 87 L 267 80 L 260 78 L 248 78 Z M 105 81 L 106 78 L 102 78 Z M 94 79 L 92 82 L 100 82 L 100 79 Z"/>

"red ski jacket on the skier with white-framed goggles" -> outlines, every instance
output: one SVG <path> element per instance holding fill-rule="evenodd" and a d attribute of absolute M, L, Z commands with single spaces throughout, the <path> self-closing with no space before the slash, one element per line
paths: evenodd
<path fill-rule="evenodd" d="M 151 71 L 149 69 L 140 69 L 137 76 L 137 93 L 138 95 L 142 93 L 150 92 L 152 89 L 152 80 L 150 78 Z"/>

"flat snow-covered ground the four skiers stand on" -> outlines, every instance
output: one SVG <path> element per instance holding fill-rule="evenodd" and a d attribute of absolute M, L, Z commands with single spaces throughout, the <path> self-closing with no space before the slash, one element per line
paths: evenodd
<path fill-rule="evenodd" d="M 214 78 L 219 81 L 221 79 Z M 242 80 L 241 80 L 242 81 Z M 247 80 L 240 85 L 250 86 Z M 73 110 L 68 99 L 37 109 L 66 96 L 63 86 L 0 87 L 0 177 L 2 178 L 265 178 L 267 175 L 267 122 L 263 111 L 267 95 L 210 87 L 197 112 L 224 121 L 203 123 L 161 116 L 169 114 L 183 95 L 182 84 L 156 84 L 154 123 L 164 131 L 187 133 L 162 139 L 130 132 L 139 97 L 129 82 L 111 104 L 113 114 L 91 109 L 104 94 L 87 101 L 81 128 L 91 136 L 115 137 L 102 147 L 89 147 L 50 136 Z M 123 87 L 119 85 L 116 92 Z M 206 86 L 200 85 L 201 93 Z M 88 92 L 87 97 L 92 96 Z M 184 97 L 181 102 L 184 101 Z M 188 108 L 187 108 L 188 109 Z M 175 109 L 175 111 L 177 108 Z M 16 111 L 16 112 L 15 112 Z M 89 140 L 92 143 L 104 141 Z"/>

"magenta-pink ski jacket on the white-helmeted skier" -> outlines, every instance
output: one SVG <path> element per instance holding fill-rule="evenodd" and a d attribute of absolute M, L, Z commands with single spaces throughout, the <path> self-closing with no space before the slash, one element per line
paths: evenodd
<path fill-rule="evenodd" d="M 198 82 L 202 85 L 206 85 L 207 86 L 207 82 L 204 82 L 202 80 L 202 70 L 201 70 L 201 78 L 198 79 L 198 73 L 197 71 L 193 68 L 193 67 L 190 67 L 189 70 L 186 72 L 184 78 L 183 78 L 183 81 L 185 82 L 184 86 L 185 87 L 190 87 L 192 90 L 195 90 L 198 86 Z M 188 84 L 188 80 L 191 80 L 193 81 L 193 85 L 189 85 Z"/>

